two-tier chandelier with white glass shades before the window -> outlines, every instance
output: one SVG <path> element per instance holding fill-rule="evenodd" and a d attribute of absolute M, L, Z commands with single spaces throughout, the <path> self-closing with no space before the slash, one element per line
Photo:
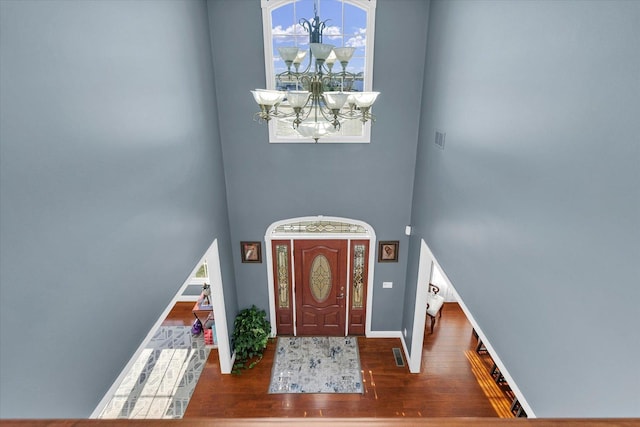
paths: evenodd
<path fill-rule="evenodd" d="M 251 93 L 260 106 L 255 120 L 284 120 L 299 135 L 318 142 L 319 138 L 339 131 L 346 120 L 374 122 L 371 106 L 380 93 L 353 90 L 357 74 L 347 71 L 347 65 L 356 49 L 322 43 L 328 20 L 320 20 L 316 4 L 314 15 L 311 21 L 304 18 L 299 21 L 309 33 L 309 51 L 297 47 L 278 48 L 287 70 L 276 75 L 277 86 L 291 89 L 256 89 Z M 300 71 L 307 53 L 310 53 L 309 62 Z M 333 71 L 336 61 L 341 71 Z"/>

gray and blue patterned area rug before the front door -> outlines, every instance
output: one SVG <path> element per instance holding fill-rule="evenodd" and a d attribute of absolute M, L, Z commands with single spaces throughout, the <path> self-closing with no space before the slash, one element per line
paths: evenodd
<path fill-rule="evenodd" d="M 363 393 L 356 337 L 278 337 L 269 393 Z"/>

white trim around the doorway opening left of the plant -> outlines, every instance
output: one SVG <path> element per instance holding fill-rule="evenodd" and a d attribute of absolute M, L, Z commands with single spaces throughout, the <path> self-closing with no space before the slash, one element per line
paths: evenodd
<path fill-rule="evenodd" d="M 211 243 L 211 246 L 209 246 L 209 249 L 207 249 L 207 251 L 202 256 L 200 261 L 198 261 L 198 263 L 195 265 L 195 267 L 191 271 L 191 274 L 189 274 L 188 278 L 182 284 L 178 292 L 176 292 L 175 296 L 173 297 L 169 305 L 164 309 L 160 317 L 158 317 L 158 319 L 154 323 L 151 330 L 149 330 L 149 332 L 147 333 L 147 336 L 142 340 L 142 343 L 140 343 L 140 346 L 138 346 L 138 349 L 135 351 L 135 353 L 133 353 L 133 356 L 131 357 L 131 359 L 129 359 L 129 362 L 127 362 L 125 367 L 120 372 L 120 375 L 118 375 L 118 377 L 113 382 L 109 390 L 107 390 L 107 392 L 102 397 L 102 399 L 100 400 L 96 408 L 93 410 L 89 418 L 98 418 L 102 413 L 102 411 L 104 410 L 104 408 L 107 406 L 107 404 L 111 401 L 111 399 L 113 399 L 113 396 L 115 395 L 116 391 L 118 391 L 118 387 L 120 386 L 120 383 L 122 383 L 122 381 L 125 379 L 129 371 L 133 367 L 134 363 L 138 360 L 143 350 L 147 347 L 147 344 L 149 344 L 149 342 L 155 335 L 158 328 L 162 326 L 162 322 L 164 322 L 164 319 L 167 318 L 167 316 L 169 315 L 169 312 L 171 312 L 175 303 L 178 301 L 191 301 L 191 299 L 185 300 L 184 299 L 185 297 L 182 296 L 182 293 L 185 291 L 185 289 L 189 285 L 192 284 L 193 276 L 196 274 L 196 272 L 200 268 L 200 265 L 205 261 L 205 259 L 207 260 L 207 264 L 210 266 L 209 279 L 210 280 L 212 279 L 211 277 L 212 271 L 216 273 L 216 276 L 214 277 L 215 280 L 211 280 L 212 282 L 211 295 L 212 295 L 212 301 L 214 303 L 213 309 L 214 309 L 215 318 L 216 318 L 215 327 L 216 327 L 216 335 L 218 337 L 218 357 L 220 359 L 220 370 L 223 374 L 231 373 L 231 366 L 233 366 L 233 363 L 231 362 L 231 365 L 229 365 L 230 363 L 229 361 L 233 359 L 223 357 L 223 354 L 229 354 L 229 333 L 227 331 L 227 318 L 225 315 L 224 294 L 222 291 L 222 275 L 220 273 L 220 257 L 218 253 L 218 239 L 214 239 L 214 241 Z M 217 298 L 217 296 L 220 296 L 220 298 Z M 188 297 L 191 297 L 191 296 L 188 296 Z M 198 297 L 195 296 L 195 300 L 193 301 L 197 301 L 197 299 Z M 216 301 L 217 301 L 217 304 L 216 304 Z M 220 320 L 218 319 L 218 316 L 221 317 Z M 221 341 L 223 342 L 222 347 L 220 346 Z M 225 372 L 227 367 L 228 367 L 228 372 Z"/>

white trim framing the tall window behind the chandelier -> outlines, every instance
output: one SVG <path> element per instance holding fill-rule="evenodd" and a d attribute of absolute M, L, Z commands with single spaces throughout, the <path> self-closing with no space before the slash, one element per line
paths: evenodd
<path fill-rule="evenodd" d="M 344 0 L 345 3 L 357 6 L 367 12 L 367 46 L 365 49 L 366 69 L 364 78 L 365 90 L 373 90 L 373 46 L 375 38 L 376 23 L 376 2 L 377 0 Z M 267 89 L 275 89 L 275 82 L 271 81 L 270 76 L 274 75 L 273 67 L 273 42 L 271 37 L 266 37 L 266 29 L 271 28 L 271 12 L 280 6 L 291 3 L 291 0 L 262 0 L 262 33 L 264 35 L 264 64 L 265 64 L 265 87 Z M 322 18 L 322 17 L 321 17 Z M 311 138 L 303 137 L 283 137 L 276 135 L 275 120 L 269 121 L 269 143 L 272 144 L 313 144 L 315 141 Z M 364 124 L 362 136 L 325 136 L 318 140 L 318 144 L 344 144 L 344 143 L 361 143 L 368 144 L 371 142 L 371 120 Z"/>

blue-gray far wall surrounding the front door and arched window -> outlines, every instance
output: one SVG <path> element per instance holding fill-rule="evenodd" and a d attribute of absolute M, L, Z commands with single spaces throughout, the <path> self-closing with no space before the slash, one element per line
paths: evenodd
<path fill-rule="evenodd" d="M 378 1 L 378 120 L 370 144 L 345 145 L 269 144 L 267 127 L 252 121 L 249 93 L 265 87 L 260 1 L 208 5 L 239 306 L 268 307 L 266 263 L 240 263 L 240 241 L 263 240 L 281 219 L 348 217 L 371 224 L 380 240 L 400 240 L 399 262 L 375 265 L 372 323 L 400 330 L 428 2 Z M 394 288 L 382 289 L 382 281 Z"/>

